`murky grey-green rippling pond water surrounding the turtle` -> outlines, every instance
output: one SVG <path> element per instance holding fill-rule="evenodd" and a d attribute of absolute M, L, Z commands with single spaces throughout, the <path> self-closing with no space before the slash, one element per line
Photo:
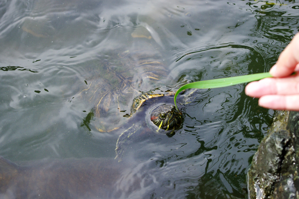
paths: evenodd
<path fill-rule="evenodd" d="M 106 167 L 123 170 L 123 198 L 247 198 L 246 172 L 274 111 L 247 97 L 245 84 L 180 95 L 182 128 L 166 136 L 142 126 L 120 163 L 119 135 L 136 121 L 144 124 L 122 117 L 136 96 L 116 90 L 114 96 L 129 100 L 104 104 L 121 115 L 115 118 L 91 117 L 97 101 L 81 95 L 97 89 L 88 90 L 91 83 L 119 78 L 107 72 L 112 62 L 132 67 L 144 56 L 168 72 L 157 79 L 163 83 L 140 92 L 269 71 L 299 31 L 298 11 L 291 0 L 1 1 L 0 155 L 33 164 L 108 158 Z M 173 96 L 145 103 L 136 115 L 146 120 L 156 101 L 173 103 Z M 135 178 L 142 185 L 131 189 Z"/>

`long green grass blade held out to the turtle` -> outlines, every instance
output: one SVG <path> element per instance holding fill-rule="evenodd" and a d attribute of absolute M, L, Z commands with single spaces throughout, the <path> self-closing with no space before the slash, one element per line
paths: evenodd
<path fill-rule="evenodd" d="M 205 81 L 199 81 L 199 82 L 192 82 L 189 84 L 186 84 L 179 88 L 178 91 L 176 91 L 176 94 L 174 95 L 174 104 L 176 105 L 176 97 L 178 94 L 188 88 L 221 88 L 225 86 L 232 86 L 236 84 L 242 84 L 246 82 L 252 82 L 257 81 L 266 77 L 272 77 L 270 73 L 257 73 L 257 74 L 250 74 L 250 75 L 242 75 L 242 76 L 236 76 L 236 77 L 226 77 L 226 78 L 219 78 L 219 79 L 211 79 L 211 80 L 205 80 Z M 176 108 L 178 108 L 176 106 Z"/>

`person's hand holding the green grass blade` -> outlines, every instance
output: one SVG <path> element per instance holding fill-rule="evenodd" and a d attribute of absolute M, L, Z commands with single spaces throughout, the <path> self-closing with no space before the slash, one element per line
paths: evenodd
<path fill-rule="evenodd" d="M 299 74 L 291 75 L 294 71 L 299 71 L 299 33 L 269 71 L 273 78 L 249 83 L 245 94 L 259 97 L 259 105 L 265 108 L 299 111 Z"/>

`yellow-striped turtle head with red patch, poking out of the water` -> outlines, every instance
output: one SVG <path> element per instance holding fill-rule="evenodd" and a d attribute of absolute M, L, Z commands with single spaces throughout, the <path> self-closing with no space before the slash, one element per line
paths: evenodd
<path fill-rule="evenodd" d="M 162 104 L 152 110 L 150 120 L 158 126 L 158 130 L 173 131 L 181 127 L 183 116 L 174 105 Z"/>

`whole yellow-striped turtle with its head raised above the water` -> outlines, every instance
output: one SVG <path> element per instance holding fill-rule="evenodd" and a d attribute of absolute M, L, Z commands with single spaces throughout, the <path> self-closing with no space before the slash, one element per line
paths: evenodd
<path fill-rule="evenodd" d="M 151 45 L 144 49 L 123 50 L 117 54 L 110 52 L 102 55 L 100 60 L 101 64 L 97 67 L 99 72 L 93 72 L 94 75 L 85 80 L 86 88 L 79 93 L 83 100 L 94 106 L 81 125 L 88 127 L 87 124 L 97 118 L 93 123 L 100 132 L 109 133 L 124 128 L 115 149 L 115 158 L 121 161 L 126 142 L 143 128 L 140 121 L 128 118 L 134 117 L 149 99 L 174 95 L 165 86 L 170 83 L 170 71 L 160 61 L 161 53 Z M 162 88 L 165 90 L 162 91 Z M 129 107 L 130 113 L 124 114 Z M 173 104 L 158 104 L 149 114 L 147 126 L 155 132 L 163 131 L 169 137 L 183 122 L 181 111 Z"/>

